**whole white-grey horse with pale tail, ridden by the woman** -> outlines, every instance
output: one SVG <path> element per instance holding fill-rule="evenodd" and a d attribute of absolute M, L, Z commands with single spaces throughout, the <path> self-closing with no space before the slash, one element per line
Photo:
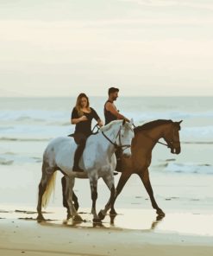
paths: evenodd
<path fill-rule="evenodd" d="M 54 138 L 48 145 L 43 154 L 42 176 L 39 184 L 38 198 L 38 220 L 44 220 L 41 208 L 47 206 L 47 202 L 53 191 L 56 170 L 64 174 L 66 180 L 66 205 L 67 220 L 82 221 L 72 202 L 72 189 L 75 178 L 89 178 L 91 184 L 91 199 L 93 221 L 100 222 L 96 211 L 97 201 L 97 179 L 103 178 L 110 189 L 110 201 L 115 196 L 114 170 L 116 168 L 115 150 L 122 149 L 124 157 L 131 156 L 131 141 L 134 138 L 132 129 L 133 120 L 130 123 L 124 120 L 116 120 L 109 125 L 100 128 L 95 135 L 91 135 L 85 145 L 83 156 L 79 161 L 79 167 L 84 172 L 73 172 L 73 157 L 77 145 L 72 137 Z M 113 163 L 113 164 L 112 164 Z"/>

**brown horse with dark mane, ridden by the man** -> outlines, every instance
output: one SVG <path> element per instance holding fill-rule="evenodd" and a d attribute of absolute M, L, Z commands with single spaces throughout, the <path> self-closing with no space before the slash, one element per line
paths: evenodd
<path fill-rule="evenodd" d="M 141 178 L 141 181 L 143 182 L 152 202 L 152 206 L 154 209 L 156 209 L 156 213 L 160 216 L 165 215 L 154 199 L 152 185 L 149 180 L 148 167 L 150 166 L 152 160 L 153 147 L 155 144 L 160 143 L 160 138 L 165 139 L 165 145 L 171 149 L 172 154 L 180 153 L 179 131 L 181 122 L 182 121 L 172 122 L 172 120 L 160 119 L 135 127 L 135 138 L 133 138 L 131 144 L 132 155 L 129 158 L 122 157 L 122 175 L 116 187 L 116 197 L 113 203 L 109 201 L 105 208 L 99 212 L 98 216 L 101 220 L 103 220 L 110 208 L 110 214 L 116 214 L 116 210 L 114 208 L 116 198 L 118 195 L 120 195 L 124 185 L 132 174 L 137 174 Z M 63 191 L 63 195 L 65 195 L 65 191 Z M 73 201 L 75 207 L 78 209 L 78 198 L 76 195 L 74 195 L 74 193 Z M 65 200 L 64 206 L 66 207 Z"/>

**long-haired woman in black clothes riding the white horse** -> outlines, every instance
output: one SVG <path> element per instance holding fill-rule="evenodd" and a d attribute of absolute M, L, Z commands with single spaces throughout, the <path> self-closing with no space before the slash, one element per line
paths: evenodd
<path fill-rule="evenodd" d="M 103 126 L 103 121 L 97 115 L 97 112 L 90 107 L 89 98 L 85 93 L 78 95 L 76 106 L 72 109 L 71 123 L 75 126 L 74 139 L 78 148 L 75 151 L 73 171 L 84 171 L 79 168 L 79 159 L 85 150 L 86 139 L 91 135 L 91 121 L 95 118 L 97 125 Z"/>

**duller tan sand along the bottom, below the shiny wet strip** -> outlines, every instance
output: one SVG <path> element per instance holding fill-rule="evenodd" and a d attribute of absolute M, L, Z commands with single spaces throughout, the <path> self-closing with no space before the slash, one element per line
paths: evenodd
<path fill-rule="evenodd" d="M 1 255 L 213 255 L 210 236 L 17 219 L 0 227 Z"/>

